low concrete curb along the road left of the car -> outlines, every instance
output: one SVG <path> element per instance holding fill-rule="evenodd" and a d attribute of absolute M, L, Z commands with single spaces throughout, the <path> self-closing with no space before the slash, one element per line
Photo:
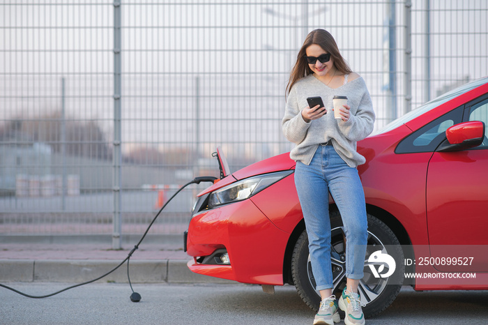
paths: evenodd
<path fill-rule="evenodd" d="M 78 259 L 0 259 L 0 282 L 86 282 L 114 269 L 122 261 Z M 132 283 L 236 283 L 193 273 L 181 259 L 131 260 Z M 128 283 L 127 263 L 100 282 Z"/>

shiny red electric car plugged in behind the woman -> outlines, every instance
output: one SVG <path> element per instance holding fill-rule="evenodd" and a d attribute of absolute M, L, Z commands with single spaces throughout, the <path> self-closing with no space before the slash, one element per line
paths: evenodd
<path fill-rule="evenodd" d="M 488 77 L 449 91 L 358 142 L 367 160 L 358 167 L 368 213 L 359 287 L 367 317 L 385 310 L 402 284 L 415 290 L 488 289 L 486 123 Z M 218 153 L 222 177 L 199 194 L 185 233 L 185 250 L 193 257 L 188 267 L 263 285 L 265 291 L 295 285 L 303 301 L 317 309 L 295 162 L 286 153 L 231 174 Z M 329 202 L 337 296 L 345 286 L 345 243 L 340 213 L 331 197 Z M 372 253 L 378 250 L 394 256 L 396 268 L 376 262 Z M 385 266 L 396 269 L 396 278 L 377 276 Z M 464 271 L 471 278 L 462 277 Z M 408 278 L 409 272 L 416 275 Z"/>

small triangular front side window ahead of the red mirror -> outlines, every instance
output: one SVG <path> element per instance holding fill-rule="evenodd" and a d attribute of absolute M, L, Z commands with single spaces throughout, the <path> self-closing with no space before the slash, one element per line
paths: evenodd
<path fill-rule="evenodd" d="M 448 114 L 415 131 L 402 140 L 395 149 L 395 153 L 414 153 L 435 151 L 437 146 L 445 139 L 445 130 L 461 121 L 461 107 L 453 109 Z"/>

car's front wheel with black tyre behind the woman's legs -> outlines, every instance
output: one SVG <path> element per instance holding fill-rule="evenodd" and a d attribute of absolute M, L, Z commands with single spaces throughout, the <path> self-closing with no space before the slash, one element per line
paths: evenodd
<path fill-rule="evenodd" d="M 369 255 L 376 250 L 399 257 L 403 260 L 402 248 L 392 230 L 381 220 L 367 215 L 368 249 L 365 256 L 364 278 L 360 280 L 358 289 L 361 301 L 365 303 L 363 313 L 365 317 L 373 317 L 383 312 L 395 300 L 402 288 L 402 278 L 374 278 L 367 262 Z M 330 213 L 331 260 L 333 269 L 333 294 L 339 297 L 346 287 L 346 257 L 344 246 L 344 227 L 339 211 Z M 373 264 L 374 265 L 374 264 Z M 404 274 L 404 266 L 395 274 Z M 308 252 L 308 237 L 306 230 L 298 238 L 291 257 L 291 276 L 300 297 L 313 310 L 318 310 L 320 294 L 315 290 L 315 279 L 312 273 L 310 255 Z"/>

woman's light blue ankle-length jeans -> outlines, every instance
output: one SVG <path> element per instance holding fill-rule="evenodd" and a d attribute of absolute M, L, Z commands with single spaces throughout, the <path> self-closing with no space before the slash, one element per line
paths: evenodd
<path fill-rule="evenodd" d="M 346 277 L 363 278 L 367 217 L 358 169 L 349 167 L 333 146 L 319 145 L 310 165 L 296 162 L 295 185 L 307 228 L 316 289 L 333 288 L 329 191 L 339 208 L 346 234 Z"/>

